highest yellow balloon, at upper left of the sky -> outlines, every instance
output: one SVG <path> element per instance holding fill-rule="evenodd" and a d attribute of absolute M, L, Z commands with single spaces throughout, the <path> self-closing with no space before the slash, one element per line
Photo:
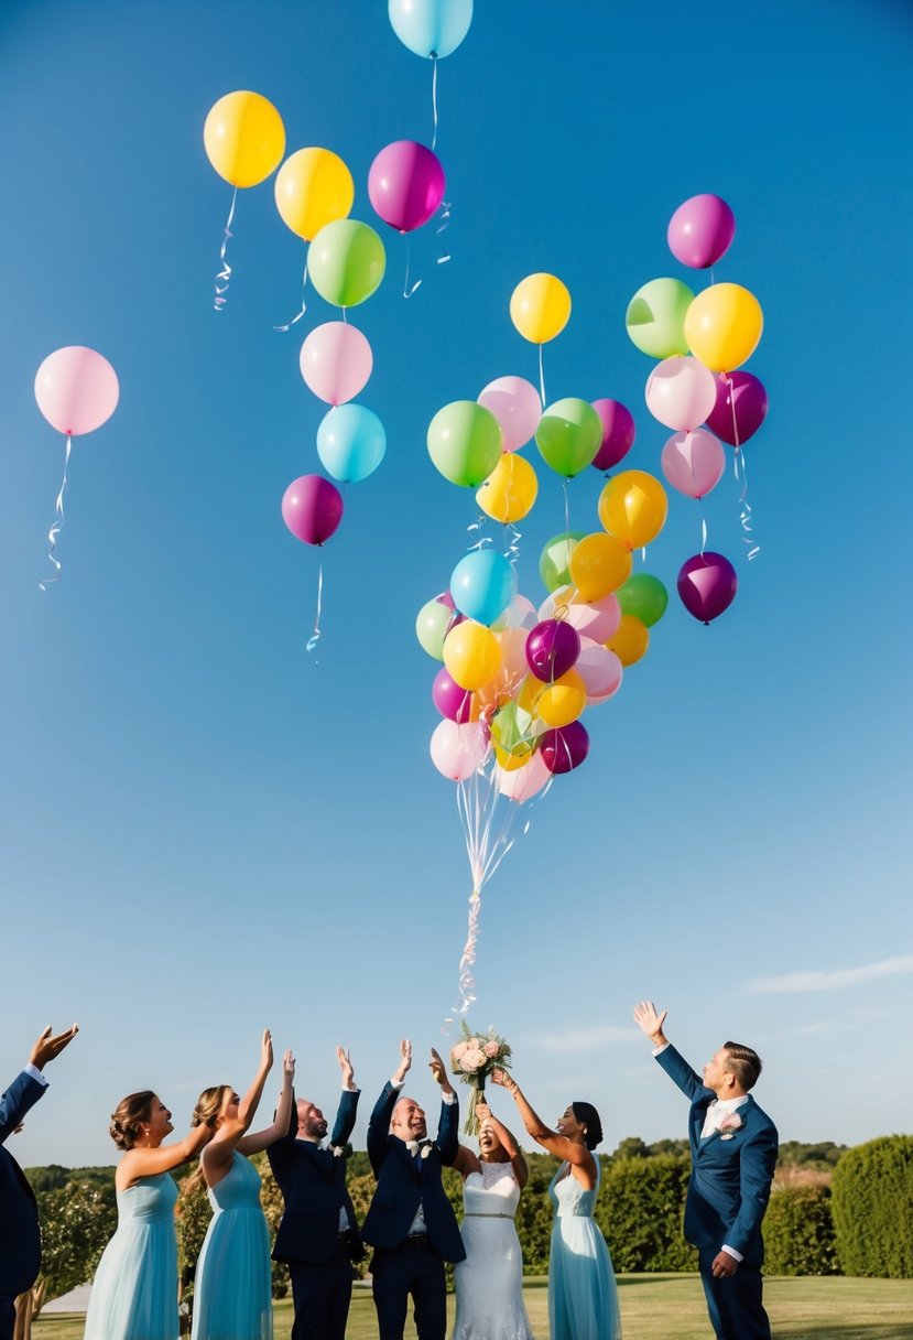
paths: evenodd
<path fill-rule="evenodd" d="M 276 172 L 285 153 L 285 126 L 258 92 L 226 92 L 203 126 L 210 163 L 233 186 L 257 186 Z"/>

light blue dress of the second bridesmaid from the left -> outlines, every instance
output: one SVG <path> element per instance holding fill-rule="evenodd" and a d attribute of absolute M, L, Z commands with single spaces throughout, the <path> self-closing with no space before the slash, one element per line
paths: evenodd
<path fill-rule="evenodd" d="M 260 1207 L 260 1174 L 237 1150 L 209 1189 L 214 1214 L 193 1290 L 193 1340 L 272 1340 L 269 1231 Z"/>

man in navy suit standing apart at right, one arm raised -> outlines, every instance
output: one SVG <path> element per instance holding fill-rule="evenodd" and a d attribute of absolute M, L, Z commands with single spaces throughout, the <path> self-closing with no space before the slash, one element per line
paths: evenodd
<path fill-rule="evenodd" d="M 704 1065 L 703 1080 L 663 1032 L 649 1001 L 635 1020 L 655 1045 L 665 1073 L 691 1100 L 691 1181 L 684 1233 L 697 1248 L 710 1320 L 719 1340 L 770 1340 L 762 1304 L 760 1223 L 776 1166 L 776 1127 L 748 1092 L 760 1075 L 750 1047 L 724 1043 Z"/>

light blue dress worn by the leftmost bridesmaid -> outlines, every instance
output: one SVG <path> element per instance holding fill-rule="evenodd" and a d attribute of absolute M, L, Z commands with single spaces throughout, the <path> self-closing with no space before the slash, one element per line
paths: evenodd
<path fill-rule="evenodd" d="M 178 1340 L 178 1248 L 169 1172 L 118 1191 L 118 1230 L 98 1264 L 86 1340 Z"/>

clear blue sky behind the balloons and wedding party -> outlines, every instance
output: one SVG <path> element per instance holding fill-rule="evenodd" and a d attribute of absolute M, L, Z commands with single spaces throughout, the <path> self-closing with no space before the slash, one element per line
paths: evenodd
<path fill-rule="evenodd" d="M 507 303 L 549 269 L 574 300 L 546 348 L 549 398 L 628 403 L 629 464 L 656 470 L 668 434 L 624 312 L 648 279 L 704 283 L 665 245 L 704 190 L 738 220 L 716 279 L 766 315 L 748 364 L 771 397 L 747 449 L 762 552 L 746 563 L 727 474 L 707 511 L 738 600 L 706 628 L 673 598 L 589 714 L 588 762 L 485 894 L 471 1018 L 511 1040 L 544 1115 L 594 1101 L 606 1148 L 684 1131 L 631 1022 L 641 997 L 671 1008 L 695 1064 L 726 1037 L 756 1045 L 783 1138 L 909 1124 L 912 55 L 901 0 L 700 16 L 481 0 L 439 72 L 452 261 L 419 234 L 424 284 L 404 302 L 400 239 L 378 222 L 387 279 L 352 314 L 375 352 L 360 399 L 390 448 L 323 551 L 315 658 L 317 553 L 278 504 L 319 468 L 299 348 L 336 314 L 315 296 L 272 330 L 303 261 L 272 181 L 240 196 L 213 312 L 230 188 L 202 125 L 224 92 L 264 92 L 289 150 L 345 158 L 353 213 L 376 222 L 368 166 L 392 139 L 430 141 L 430 64 L 382 0 L 8 0 L 0 1081 L 46 1022 L 83 1029 L 19 1138 L 24 1163 L 111 1159 L 108 1114 L 145 1085 L 183 1126 L 199 1088 L 248 1083 L 264 1025 L 324 1106 L 351 1047 L 361 1143 L 398 1040 L 447 1045 L 470 880 L 427 754 L 435 665 L 414 619 L 475 511 L 431 466 L 426 427 L 494 377 L 535 379 Z M 75 442 L 63 576 L 42 595 L 63 442 L 32 385 L 70 343 L 111 359 L 120 405 Z M 540 476 L 522 525 L 534 599 L 540 547 L 564 529 L 560 481 Z M 601 482 L 572 485 L 572 524 L 594 525 Z M 676 494 L 649 567 L 673 588 L 697 547 Z M 431 1100 L 427 1075 L 414 1088 Z"/>

